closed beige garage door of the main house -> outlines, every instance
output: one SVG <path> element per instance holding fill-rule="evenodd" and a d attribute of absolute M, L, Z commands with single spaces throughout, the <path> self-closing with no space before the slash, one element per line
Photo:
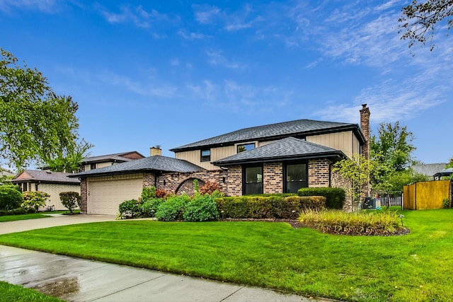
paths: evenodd
<path fill-rule="evenodd" d="M 118 213 L 118 205 L 142 194 L 143 178 L 88 181 L 88 214 Z"/>

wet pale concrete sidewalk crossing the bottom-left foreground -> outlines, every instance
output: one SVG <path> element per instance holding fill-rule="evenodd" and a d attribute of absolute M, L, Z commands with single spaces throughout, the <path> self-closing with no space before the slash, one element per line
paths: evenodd
<path fill-rule="evenodd" d="M 66 301 L 328 301 L 4 245 L 0 280 Z"/>

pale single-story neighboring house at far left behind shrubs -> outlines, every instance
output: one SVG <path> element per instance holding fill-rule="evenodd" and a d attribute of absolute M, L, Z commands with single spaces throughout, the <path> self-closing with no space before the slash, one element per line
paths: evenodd
<path fill-rule="evenodd" d="M 71 173 L 51 172 L 49 170 L 24 170 L 16 175 L 11 182 L 20 185 L 22 192 L 42 191 L 50 195 L 45 207 L 54 207 L 55 210 L 66 209 L 59 199 L 60 192 L 78 192 L 80 194 L 80 180 L 68 178 Z M 41 210 L 42 210 L 41 209 Z"/>

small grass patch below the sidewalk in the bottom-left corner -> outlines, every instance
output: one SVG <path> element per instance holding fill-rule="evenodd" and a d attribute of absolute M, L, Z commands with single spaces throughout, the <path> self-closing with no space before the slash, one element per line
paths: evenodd
<path fill-rule="evenodd" d="M 25 289 L 22 286 L 8 284 L 0 281 L 0 301 L 42 301 L 42 302 L 59 302 L 58 298 L 41 294 L 34 289 Z"/>

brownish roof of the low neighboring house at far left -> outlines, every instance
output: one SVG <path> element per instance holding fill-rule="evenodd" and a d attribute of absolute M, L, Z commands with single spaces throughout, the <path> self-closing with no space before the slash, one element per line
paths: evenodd
<path fill-rule="evenodd" d="M 80 180 L 74 178 L 68 178 L 71 173 L 63 172 L 51 172 L 49 170 L 25 170 L 22 173 L 16 175 L 11 182 L 42 182 L 42 183 L 56 183 L 56 184 L 67 184 L 67 185 L 79 185 Z"/>

